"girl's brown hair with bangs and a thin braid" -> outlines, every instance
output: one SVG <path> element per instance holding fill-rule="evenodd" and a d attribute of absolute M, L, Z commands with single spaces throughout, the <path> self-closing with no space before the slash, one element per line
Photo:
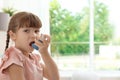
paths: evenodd
<path fill-rule="evenodd" d="M 9 40 L 10 40 L 9 31 L 11 30 L 12 32 L 15 33 L 18 29 L 23 27 L 41 28 L 42 23 L 38 16 L 30 12 L 18 12 L 14 14 L 11 17 L 8 26 L 5 50 L 9 46 Z"/>

